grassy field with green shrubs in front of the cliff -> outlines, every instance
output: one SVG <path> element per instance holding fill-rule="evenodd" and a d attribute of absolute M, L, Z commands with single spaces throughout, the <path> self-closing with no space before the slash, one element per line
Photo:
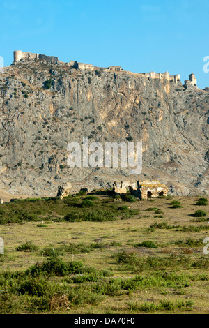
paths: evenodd
<path fill-rule="evenodd" d="M 0 313 L 208 313 L 207 199 L 109 193 L 0 207 Z"/>

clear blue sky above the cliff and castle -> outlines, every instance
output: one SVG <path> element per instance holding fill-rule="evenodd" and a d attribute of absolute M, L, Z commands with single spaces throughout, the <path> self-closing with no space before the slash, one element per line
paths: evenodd
<path fill-rule="evenodd" d="M 0 3 L 0 56 L 22 50 L 136 73 L 168 70 L 209 87 L 208 0 L 10 0 Z"/>

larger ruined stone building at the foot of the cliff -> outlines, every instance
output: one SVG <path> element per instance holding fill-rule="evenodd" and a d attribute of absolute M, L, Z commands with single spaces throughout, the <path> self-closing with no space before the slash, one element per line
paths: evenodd
<path fill-rule="evenodd" d="M 118 181 L 114 182 L 113 190 L 116 194 L 130 191 L 132 195 L 140 200 L 152 197 L 166 196 L 169 188 L 159 181 Z"/>

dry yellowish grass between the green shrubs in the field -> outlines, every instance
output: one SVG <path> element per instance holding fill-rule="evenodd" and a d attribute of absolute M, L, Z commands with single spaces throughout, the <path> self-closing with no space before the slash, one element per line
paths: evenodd
<path fill-rule="evenodd" d="M 106 195 L 96 197 L 98 202 L 107 200 Z M 63 251 L 61 258 L 64 262 L 71 260 L 82 261 L 86 267 L 109 270 L 114 278 L 134 278 L 136 274 L 139 274 L 147 275 L 147 277 L 153 276 L 155 281 L 155 279 L 158 279 L 157 273 L 162 274 L 163 272 L 185 275 L 185 278 L 182 278 L 180 285 L 175 283 L 175 279 L 170 285 L 165 280 L 162 283 L 156 280 L 156 285 L 155 283 L 153 285 L 145 284 L 139 286 L 136 290 L 130 290 L 130 292 L 124 290 L 119 292 L 118 295 L 105 295 L 98 305 L 91 304 L 91 301 L 86 304 L 73 304 L 73 301 L 70 301 L 66 295 L 53 295 L 48 313 L 141 313 L 142 308 L 147 311 L 153 308 L 153 313 L 155 311 L 157 313 L 182 313 L 185 311 L 189 311 L 189 313 L 207 313 L 207 294 L 209 290 L 208 278 L 206 277 L 208 275 L 208 266 L 204 263 L 201 264 L 201 258 L 205 260 L 209 260 L 209 258 L 208 255 L 203 254 L 205 244 L 201 244 L 201 239 L 208 237 L 209 232 L 208 230 L 183 232 L 179 229 L 179 227 L 189 227 L 191 225 L 208 227 L 207 221 L 194 222 L 190 216 L 197 209 L 203 209 L 209 217 L 208 205 L 203 207 L 195 205 L 198 198 L 174 197 L 172 200 L 178 200 L 182 205 L 182 207 L 176 209 L 171 208 L 171 200 L 167 198 L 157 198 L 151 202 L 144 200 L 129 204 L 124 203 L 131 209 L 138 209 L 139 215 L 123 220 L 118 218 L 116 221 L 54 222 L 52 217 L 47 223 L 43 220 L 43 226 L 38 226 L 37 222 L 0 225 L 0 236 L 4 238 L 5 242 L 5 255 L 4 260 L 0 262 L 0 272 L 8 270 L 25 271 L 31 265 L 36 264 L 37 261 L 44 262 L 46 258 L 41 255 L 41 251 L 46 247 L 53 247 L 55 250 L 62 248 L 64 250 L 64 246 L 69 244 L 86 244 L 88 246 L 99 242 L 104 244 L 104 247 L 95 248 L 86 253 L 73 254 Z M 146 211 L 150 207 L 156 207 L 158 211 L 163 212 L 163 218 L 156 218 L 155 211 Z M 166 225 L 164 225 L 164 228 L 150 229 L 153 223 L 167 223 L 172 228 L 166 228 Z M 191 242 L 196 241 L 196 244 L 194 243 L 194 246 L 188 244 L 187 246 L 188 239 Z M 38 246 L 38 250 L 31 252 L 15 251 L 17 246 L 25 244 L 27 241 L 31 241 L 31 243 Z M 134 244 L 144 241 L 153 241 L 158 248 L 134 247 Z M 177 241 L 180 241 L 179 244 Z M 119 263 L 115 255 L 122 251 L 133 252 L 138 262 L 134 262 L 132 265 Z M 146 264 L 144 271 L 139 270 L 139 266 L 142 265 L 140 261 L 149 258 L 162 259 L 163 261 L 164 258 L 169 259 L 172 255 L 178 259 L 189 258 L 192 262 L 188 262 L 190 264 L 181 263 L 178 264 L 178 267 L 173 267 L 172 261 L 170 261 L 169 264 L 162 264 L 162 266 L 156 264 L 157 269 L 152 269 Z M 167 265 L 167 267 L 164 267 L 164 265 Z M 85 285 L 84 283 L 82 286 L 85 287 L 88 284 Z M 75 285 L 72 284 L 72 286 Z M 92 296 L 92 299 L 94 297 L 95 295 Z M 174 304 L 173 309 L 166 310 L 160 307 L 159 304 L 162 304 L 160 302 L 164 300 L 170 302 L 170 308 Z M 190 307 L 184 306 L 185 303 L 178 304 L 178 301 L 185 302 L 188 300 L 193 302 Z M 156 306 L 143 307 L 145 303 L 155 304 Z M 175 304 L 178 304 L 178 306 Z"/>

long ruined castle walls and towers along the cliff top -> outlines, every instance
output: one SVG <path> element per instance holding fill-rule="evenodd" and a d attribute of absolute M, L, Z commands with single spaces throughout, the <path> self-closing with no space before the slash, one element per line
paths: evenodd
<path fill-rule="evenodd" d="M 92 64 L 84 64 L 84 63 L 79 63 L 78 61 L 73 61 L 70 60 L 67 63 L 64 63 L 63 61 L 59 61 L 58 57 L 54 56 L 46 56 L 45 54 L 33 54 L 31 52 L 22 52 L 21 50 L 16 50 L 14 51 L 14 61 L 13 63 L 17 63 L 18 61 L 21 61 L 22 59 L 26 60 L 43 60 L 43 61 L 49 61 L 54 64 L 65 64 L 67 66 L 70 66 L 72 68 L 75 68 L 77 70 L 88 70 L 88 71 L 94 71 L 94 70 L 100 70 L 103 72 L 114 72 L 114 73 L 130 73 L 130 74 L 137 74 L 140 76 L 144 76 L 150 79 L 160 79 L 160 80 L 167 80 L 170 82 L 174 82 L 178 84 L 180 82 L 180 75 L 169 75 L 169 72 L 166 71 L 164 73 L 155 73 L 155 72 L 150 72 L 150 73 L 132 73 L 123 70 L 121 66 L 109 66 L 107 68 L 105 67 L 97 67 L 93 66 Z M 192 87 L 196 87 L 196 78 L 194 76 L 194 73 L 189 75 L 189 80 L 185 81 L 184 87 L 189 89 Z"/>

